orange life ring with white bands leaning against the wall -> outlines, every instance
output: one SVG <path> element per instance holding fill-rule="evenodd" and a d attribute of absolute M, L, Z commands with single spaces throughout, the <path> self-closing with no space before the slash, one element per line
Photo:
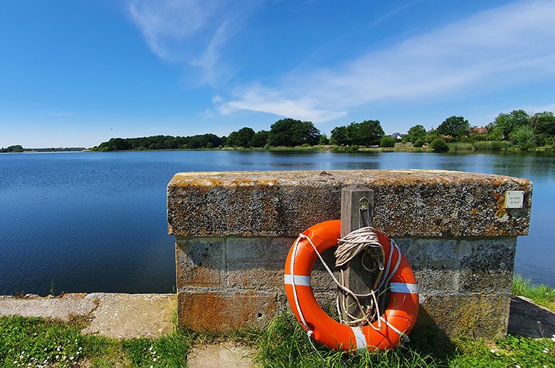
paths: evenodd
<path fill-rule="evenodd" d="M 337 244 L 340 229 L 341 221 L 332 220 L 315 224 L 302 234 L 311 239 L 312 244 L 321 254 Z M 377 231 L 376 234 L 384 247 L 386 262 L 391 261 L 391 264 L 399 262 L 398 269 L 390 280 L 390 300 L 385 313 L 381 316 L 383 322 L 380 330 L 378 330 L 377 321 L 373 324 L 374 328 L 370 325 L 350 327 L 333 320 L 322 310 L 314 298 L 310 283 L 317 254 L 306 238 L 297 239 L 295 242 L 295 244 L 298 242 L 297 251 L 295 252 L 295 244 L 293 244 L 287 255 L 285 291 L 291 309 L 309 335 L 330 349 L 372 351 L 393 348 L 398 345 L 401 336 L 411 332 L 414 326 L 418 315 L 418 287 L 413 270 L 401 251 L 391 252 L 393 246 L 384 234 Z M 399 257 L 401 257 L 400 260 Z M 293 258 L 294 264 L 292 264 Z M 293 288 L 296 291 L 296 301 Z"/>

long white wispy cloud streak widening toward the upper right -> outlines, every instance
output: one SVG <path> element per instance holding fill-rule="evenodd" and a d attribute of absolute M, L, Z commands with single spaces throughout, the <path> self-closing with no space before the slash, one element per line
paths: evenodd
<path fill-rule="evenodd" d="M 316 122 L 379 101 L 480 93 L 555 73 L 555 3 L 482 11 L 338 67 L 292 70 L 275 85 L 238 87 L 218 108 Z"/>

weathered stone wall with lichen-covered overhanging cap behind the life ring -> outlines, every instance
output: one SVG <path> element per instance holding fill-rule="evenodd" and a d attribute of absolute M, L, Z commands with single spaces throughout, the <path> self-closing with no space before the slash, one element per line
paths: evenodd
<path fill-rule="evenodd" d="M 413 266 L 418 323 L 449 336 L 504 335 L 532 183 L 453 171 L 176 174 L 168 220 L 176 236 L 179 323 L 229 330 L 263 325 L 288 308 L 283 265 L 295 236 L 339 218 L 341 189 L 354 183 L 374 190 L 374 226 L 396 239 Z M 522 209 L 504 207 L 507 190 L 524 190 Z M 312 283 L 317 295 L 334 294 L 322 267 Z"/>

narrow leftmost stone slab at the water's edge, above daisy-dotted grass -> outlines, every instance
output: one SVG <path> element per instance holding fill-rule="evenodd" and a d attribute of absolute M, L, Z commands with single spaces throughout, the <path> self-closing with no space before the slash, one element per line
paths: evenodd
<path fill-rule="evenodd" d="M 96 305 L 85 299 L 86 294 L 66 294 L 62 298 L 37 296 L 0 298 L 0 317 L 21 315 L 23 317 L 54 318 L 68 321 L 74 316 L 89 315 Z"/>

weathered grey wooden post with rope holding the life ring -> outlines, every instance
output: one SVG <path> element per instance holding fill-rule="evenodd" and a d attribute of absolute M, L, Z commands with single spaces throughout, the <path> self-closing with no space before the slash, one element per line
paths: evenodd
<path fill-rule="evenodd" d="M 373 226 L 374 191 L 364 185 L 350 185 L 341 191 L 341 237 L 361 227 Z M 345 286 L 354 293 L 369 293 L 373 281 L 371 274 L 361 264 L 362 253 L 351 260 L 344 271 Z M 365 305 L 369 298 L 361 299 Z M 347 298 L 347 305 L 351 305 L 349 313 L 361 317 L 359 309 L 353 305 L 354 301 Z"/>

